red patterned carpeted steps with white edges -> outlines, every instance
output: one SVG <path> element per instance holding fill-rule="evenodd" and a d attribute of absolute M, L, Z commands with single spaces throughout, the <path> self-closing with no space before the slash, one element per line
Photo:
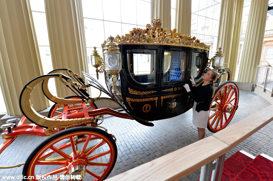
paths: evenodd
<path fill-rule="evenodd" d="M 273 158 L 238 151 L 224 162 L 221 181 L 273 181 Z"/>

